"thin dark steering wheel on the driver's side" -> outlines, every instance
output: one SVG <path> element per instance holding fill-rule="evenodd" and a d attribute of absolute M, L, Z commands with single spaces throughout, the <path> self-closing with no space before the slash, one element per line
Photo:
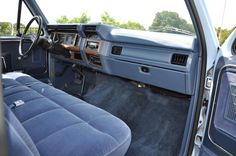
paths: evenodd
<path fill-rule="evenodd" d="M 36 34 L 27 33 L 32 23 L 36 21 L 38 23 L 38 30 Z M 25 30 L 20 38 L 19 44 L 19 55 L 20 56 L 28 56 L 31 49 L 37 44 L 40 34 L 42 31 L 42 18 L 40 16 L 34 16 L 29 23 L 26 25 Z M 27 48 L 25 48 L 24 44 L 27 43 Z"/>

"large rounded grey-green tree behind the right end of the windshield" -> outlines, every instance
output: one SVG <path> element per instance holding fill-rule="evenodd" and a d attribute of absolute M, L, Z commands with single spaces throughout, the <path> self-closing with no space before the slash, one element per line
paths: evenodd
<path fill-rule="evenodd" d="M 178 13 L 171 11 L 157 12 L 149 30 L 166 32 L 165 28 L 167 27 L 174 27 L 194 33 L 192 24 L 181 18 Z"/>

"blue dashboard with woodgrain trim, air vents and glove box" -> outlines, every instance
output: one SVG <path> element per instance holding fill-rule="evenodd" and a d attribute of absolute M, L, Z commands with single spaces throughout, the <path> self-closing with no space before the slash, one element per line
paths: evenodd
<path fill-rule="evenodd" d="M 131 80 L 192 95 L 198 66 L 195 36 L 143 32 L 103 24 L 48 25 L 54 43 L 70 57 L 53 59 L 80 64 Z"/>

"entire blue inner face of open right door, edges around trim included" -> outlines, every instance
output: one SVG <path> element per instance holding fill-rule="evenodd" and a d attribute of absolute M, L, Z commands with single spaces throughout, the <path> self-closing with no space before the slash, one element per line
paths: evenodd
<path fill-rule="evenodd" d="M 236 57 L 217 63 L 209 124 L 200 155 L 236 155 Z"/>

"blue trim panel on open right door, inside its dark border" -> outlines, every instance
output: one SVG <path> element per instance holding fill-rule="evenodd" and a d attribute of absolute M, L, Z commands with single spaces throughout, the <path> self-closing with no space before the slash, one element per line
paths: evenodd
<path fill-rule="evenodd" d="M 216 98 L 209 135 L 229 153 L 236 153 L 236 66 L 223 66 L 217 80 Z"/>

